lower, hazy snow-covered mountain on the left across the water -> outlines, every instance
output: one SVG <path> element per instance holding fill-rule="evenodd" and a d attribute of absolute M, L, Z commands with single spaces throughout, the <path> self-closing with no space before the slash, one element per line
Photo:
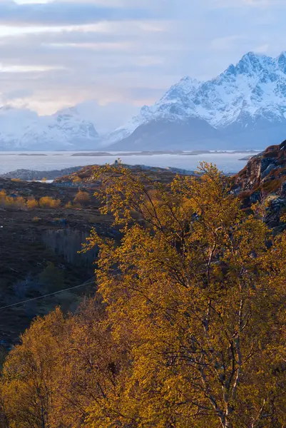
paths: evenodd
<path fill-rule="evenodd" d="M 96 149 L 99 141 L 94 124 L 77 107 L 51 116 L 10 106 L 0 108 L 1 150 Z"/>

